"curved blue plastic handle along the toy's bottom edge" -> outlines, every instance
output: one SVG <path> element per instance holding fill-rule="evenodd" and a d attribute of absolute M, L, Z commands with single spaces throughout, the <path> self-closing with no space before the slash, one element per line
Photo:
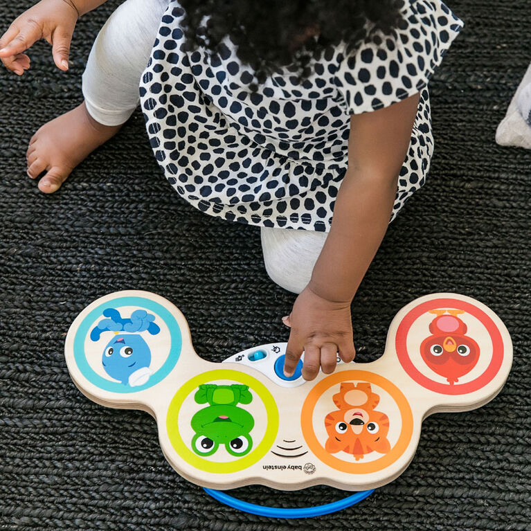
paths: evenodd
<path fill-rule="evenodd" d="M 347 496 L 343 500 L 334 501 L 332 503 L 325 503 L 325 505 L 316 505 L 315 507 L 300 507 L 292 509 L 284 509 L 282 507 L 266 507 L 264 505 L 257 505 L 255 503 L 249 503 L 239 500 L 234 496 L 230 496 L 223 491 L 207 489 L 204 487 L 206 494 L 209 494 L 217 501 L 234 507 L 243 512 L 249 512 L 251 514 L 258 514 L 258 516 L 271 516 L 273 518 L 312 518 L 312 516 L 321 516 L 321 514 L 330 514 L 331 512 L 341 511 L 347 507 L 359 503 L 364 500 L 370 494 L 375 492 L 372 490 L 364 490 Z"/>

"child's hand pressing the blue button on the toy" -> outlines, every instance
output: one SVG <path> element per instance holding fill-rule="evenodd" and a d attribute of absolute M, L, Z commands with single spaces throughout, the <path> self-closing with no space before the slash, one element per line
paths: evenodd
<path fill-rule="evenodd" d="M 338 352 L 345 363 L 354 359 L 356 350 L 352 339 L 350 302 L 330 302 L 306 287 L 297 297 L 291 314 L 282 321 L 291 327 L 285 375 L 294 373 L 303 350 L 305 380 L 313 380 L 319 367 L 325 374 L 334 372 Z"/>

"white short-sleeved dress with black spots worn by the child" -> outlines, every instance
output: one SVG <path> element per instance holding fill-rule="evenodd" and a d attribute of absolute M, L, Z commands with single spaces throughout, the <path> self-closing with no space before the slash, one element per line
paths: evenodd
<path fill-rule="evenodd" d="M 181 49 L 183 10 L 170 1 L 141 81 L 157 161 L 179 195 L 247 224 L 329 231 L 348 163 L 350 114 L 420 92 L 391 221 L 424 184 L 433 153 L 426 85 L 462 28 L 438 0 L 405 3 L 393 34 L 354 51 L 328 48 L 298 82 L 289 69 L 249 89 L 249 66 L 222 50 Z"/>

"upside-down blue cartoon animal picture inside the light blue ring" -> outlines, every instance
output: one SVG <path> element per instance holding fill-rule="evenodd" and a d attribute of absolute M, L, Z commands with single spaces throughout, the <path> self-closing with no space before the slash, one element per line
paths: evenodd
<path fill-rule="evenodd" d="M 107 374 L 124 385 L 141 386 L 150 379 L 152 370 L 151 350 L 140 332 L 156 335 L 161 331 L 155 316 L 145 309 L 136 309 L 130 318 L 123 318 L 114 308 L 103 310 L 102 319 L 90 334 L 92 341 L 98 341 L 103 332 L 114 332 L 102 354 L 102 366 Z"/>

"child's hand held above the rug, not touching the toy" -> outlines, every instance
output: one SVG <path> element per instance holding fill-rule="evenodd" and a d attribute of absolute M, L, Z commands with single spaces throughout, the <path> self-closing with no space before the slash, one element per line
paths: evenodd
<path fill-rule="evenodd" d="M 46 39 L 53 46 L 57 68 L 69 69 L 69 51 L 78 10 L 72 0 L 42 0 L 11 24 L 0 38 L 0 60 L 8 70 L 22 75 L 30 58 L 22 53 L 35 41 Z"/>

